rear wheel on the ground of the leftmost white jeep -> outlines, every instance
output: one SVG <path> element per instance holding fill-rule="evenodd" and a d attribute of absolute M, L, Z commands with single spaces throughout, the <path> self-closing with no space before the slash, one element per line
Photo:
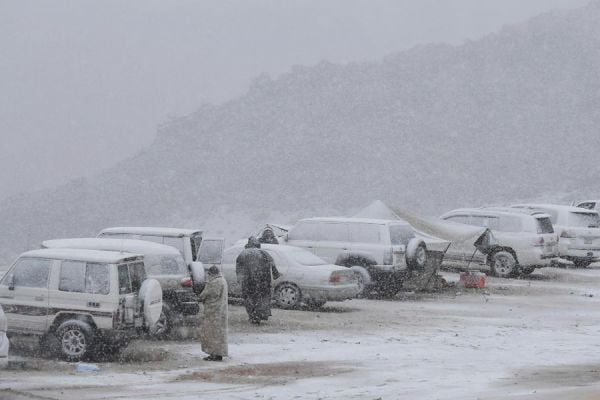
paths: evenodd
<path fill-rule="evenodd" d="M 92 353 L 95 335 L 86 322 L 68 320 L 56 330 L 58 350 L 66 361 L 79 361 Z"/>

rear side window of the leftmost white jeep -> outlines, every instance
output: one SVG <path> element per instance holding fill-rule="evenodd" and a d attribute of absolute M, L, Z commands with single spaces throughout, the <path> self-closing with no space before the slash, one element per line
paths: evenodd
<path fill-rule="evenodd" d="M 58 290 L 108 294 L 110 292 L 108 265 L 84 261 L 63 261 L 60 267 Z"/>

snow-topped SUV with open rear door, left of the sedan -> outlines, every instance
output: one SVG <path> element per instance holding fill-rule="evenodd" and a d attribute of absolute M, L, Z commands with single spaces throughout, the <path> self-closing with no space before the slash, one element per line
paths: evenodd
<path fill-rule="evenodd" d="M 223 238 L 205 237 L 198 229 L 152 228 L 152 227 L 116 227 L 100 231 L 99 238 L 138 239 L 173 246 L 183 256 L 192 272 L 197 291 L 204 288 L 204 274 L 194 274 L 195 263 L 202 263 L 205 269 L 221 263 Z M 198 264 L 200 266 L 200 264 Z"/>

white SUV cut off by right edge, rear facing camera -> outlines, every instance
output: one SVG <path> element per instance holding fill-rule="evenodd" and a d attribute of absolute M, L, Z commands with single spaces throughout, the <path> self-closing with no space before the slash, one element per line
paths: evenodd
<path fill-rule="evenodd" d="M 515 204 L 512 207 L 539 210 L 550 215 L 559 235 L 558 253 L 577 267 L 600 260 L 600 216 L 597 211 L 555 204 Z"/>

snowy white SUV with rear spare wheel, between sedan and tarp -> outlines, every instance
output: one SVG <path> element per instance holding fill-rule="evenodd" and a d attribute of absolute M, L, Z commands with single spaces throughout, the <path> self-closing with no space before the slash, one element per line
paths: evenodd
<path fill-rule="evenodd" d="M 411 270 L 427 263 L 425 241 L 404 221 L 366 218 L 300 220 L 285 244 L 301 247 L 328 263 L 352 268 L 361 292 L 376 287 L 397 291 Z"/>

